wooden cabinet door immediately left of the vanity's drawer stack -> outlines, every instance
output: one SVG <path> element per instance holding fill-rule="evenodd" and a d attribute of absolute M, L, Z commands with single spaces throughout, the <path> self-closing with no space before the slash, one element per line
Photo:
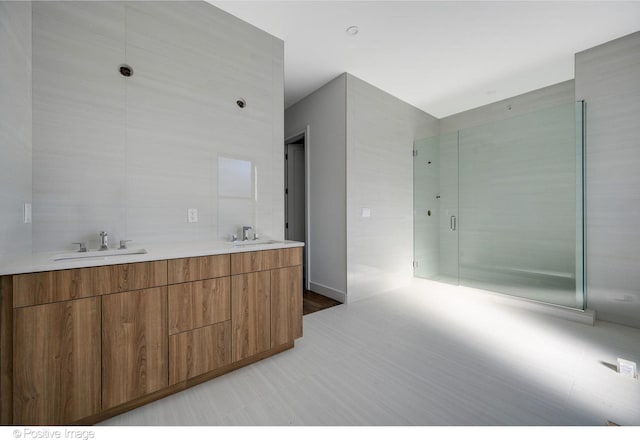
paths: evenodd
<path fill-rule="evenodd" d="M 167 288 L 102 297 L 102 407 L 167 386 Z"/>

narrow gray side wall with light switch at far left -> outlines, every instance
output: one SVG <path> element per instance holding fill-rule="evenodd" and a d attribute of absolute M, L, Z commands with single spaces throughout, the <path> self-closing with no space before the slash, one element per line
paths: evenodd
<path fill-rule="evenodd" d="M 0 2 L 0 259 L 31 252 L 31 3 Z"/>

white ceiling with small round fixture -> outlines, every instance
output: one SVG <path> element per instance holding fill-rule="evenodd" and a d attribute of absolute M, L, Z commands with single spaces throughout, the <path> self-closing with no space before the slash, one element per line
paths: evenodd
<path fill-rule="evenodd" d="M 438 118 L 572 79 L 576 52 L 640 30 L 640 1 L 208 1 L 284 40 L 285 107 L 349 72 Z"/>

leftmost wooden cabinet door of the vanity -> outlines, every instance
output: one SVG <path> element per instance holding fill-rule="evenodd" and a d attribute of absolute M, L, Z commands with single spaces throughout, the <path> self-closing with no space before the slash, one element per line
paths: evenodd
<path fill-rule="evenodd" d="M 15 425 L 65 425 L 100 411 L 100 299 L 14 310 Z"/>

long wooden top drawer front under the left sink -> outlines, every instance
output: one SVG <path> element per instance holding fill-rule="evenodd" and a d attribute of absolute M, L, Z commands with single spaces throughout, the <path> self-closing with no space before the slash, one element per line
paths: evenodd
<path fill-rule="evenodd" d="M 87 298 L 166 284 L 166 261 L 14 275 L 13 307 Z"/>

